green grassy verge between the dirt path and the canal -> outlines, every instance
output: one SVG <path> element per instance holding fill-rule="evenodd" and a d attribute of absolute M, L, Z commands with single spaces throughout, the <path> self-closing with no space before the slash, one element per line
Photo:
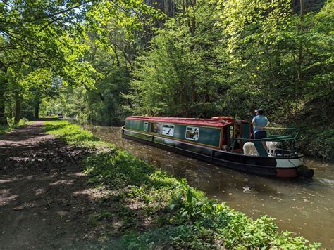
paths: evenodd
<path fill-rule="evenodd" d="M 128 152 L 95 138 L 68 121 L 46 121 L 45 131 L 91 153 L 80 165 L 89 183 L 103 190 L 106 209 L 92 214 L 105 239 L 117 236 L 120 246 L 184 249 L 273 248 L 316 249 L 304 237 L 277 231 L 275 219 L 245 214 L 218 204 L 168 173 Z"/>

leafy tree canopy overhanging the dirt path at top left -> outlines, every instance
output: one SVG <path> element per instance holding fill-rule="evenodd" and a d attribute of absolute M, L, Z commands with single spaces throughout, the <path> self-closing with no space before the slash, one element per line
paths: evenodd
<path fill-rule="evenodd" d="M 141 15 L 157 15 L 153 8 L 138 1 L 5 1 L 0 4 L 1 68 L 6 76 L 12 51 L 34 66 L 48 67 L 64 84 L 92 88 L 94 68 L 79 60 L 88 47 L 82 44 L 87 29 L 104 37 L 105 25 L 114 20 L 126 34 L 141 25 Z M 0 121 L 4 123 L 6 80 L 1 83 Z"/>

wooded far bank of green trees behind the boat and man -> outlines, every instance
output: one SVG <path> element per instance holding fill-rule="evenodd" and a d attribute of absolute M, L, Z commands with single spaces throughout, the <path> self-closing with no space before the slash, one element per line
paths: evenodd
<path fill-rule="evenodd" d="M 302 17 L 290 1 L 197 1 L 157 29 L 135 61 L 129 110 L 249 119 L 261 107 L 272 123 L 311 130 L 317 121 L 302 124 L 298 115 L 307 103 L 318 101 L 315 113 L 323 106 L 333 113 L 324 103 L 333 96 L 333 15 L 333 1 Z M 318 138 L 327 129 L 304 133 L 303 145 L 328 157 L 333 146 Z"/>

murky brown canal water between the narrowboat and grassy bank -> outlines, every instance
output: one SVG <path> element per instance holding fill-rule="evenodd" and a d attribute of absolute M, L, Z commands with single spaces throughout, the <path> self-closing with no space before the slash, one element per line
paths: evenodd
<path fill-rule="evenodd" d="M 190 185 L 209 197 L 226 202 L 254 219 L 263 214 L 277 218 L 279 230 L 295 232 L 323 247 L 334 248 L 334 164 L 306 159 L 314 169 L 312 180 L 283 180 L 240 173 L 121 137 L 120 127 L 97 126 L 83 120 L 69 120 L 114 143 L 136 157 Z"/>

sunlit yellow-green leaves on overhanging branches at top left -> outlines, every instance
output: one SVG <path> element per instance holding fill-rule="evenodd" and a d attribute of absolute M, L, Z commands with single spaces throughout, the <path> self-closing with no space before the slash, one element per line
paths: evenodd
<path fill-rule="evenodd" d="M 90 46 L 97 43 L 111 53 L 112 29 L 122 30 L 125 39 L 133 41 L 135 32 L 151 25 L 155 18 L 161 18 L 159 11 L 134 0 L 1 1 L 0 65 L 1 70 L 11 72 L 4 74 L 11 77 L 8 79 L 11 85 L 9 88 L 1 84 L 4 89 L 0 91 L 0 99 L 8 91 L 6 96 L 11 97 L 7 98 L 8 106 L 12 108 L 13 96 L 23 98 L 27 94 L 25 90 L 30 89 L 20 84 L 34 84 L 21 79 L 38 68 L 49 70 L 63 85 L 93 89 L 105 76 L 85 60 Z M 29 66 L 28 71 L 24 65 Z M 16 70 L 12 72 L 14 67 Z"/>

